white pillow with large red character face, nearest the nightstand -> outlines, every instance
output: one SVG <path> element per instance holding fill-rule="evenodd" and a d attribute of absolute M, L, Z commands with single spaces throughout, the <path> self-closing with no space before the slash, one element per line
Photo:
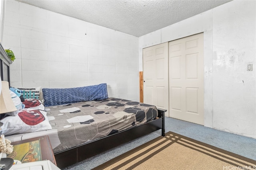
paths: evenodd
<path fill-rule="evenodd" d="M 16 116 L 8 116 L 1 120 L 1 134 L 37 132 L 52 129 L 46 112 L 36 109 L 22 109 Z"/>

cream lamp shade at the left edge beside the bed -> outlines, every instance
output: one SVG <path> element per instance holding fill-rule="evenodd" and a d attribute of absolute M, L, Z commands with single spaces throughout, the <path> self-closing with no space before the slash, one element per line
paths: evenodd
<path fill-rule="evenodd" d="M 9 90 L 9 83 L 6 81 L 1 81 L 1 82 L 2 82 L 2 90 L 0 94 L 0 114 L 16 111 L 17 108 L 15 107 L 12 101 L 12 97 Z"/>

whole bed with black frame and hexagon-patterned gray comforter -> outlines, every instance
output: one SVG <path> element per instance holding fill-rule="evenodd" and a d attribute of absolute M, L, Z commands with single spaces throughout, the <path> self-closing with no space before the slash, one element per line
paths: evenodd
<path fill-rule="evenodd" d="M 6 63 L 2 57 L 1 63 Z M 1 65 L 0 72 L 2 80 L 10 80 L 8 63 L 5 68 Z M 6 77 L 2 75 L 6 75 Z M 106 84 L 99 85 L 103 86 L 106 91 Z M 90 86 L 83 88 L 88 87 Z M 72 90 L 74 92 L 73 88 Z M 24 133 L 18 134 L 12 132 L 14 134 L 6 135 L 6 138 L 13 142 L 48 135 L 58 167 L 65 168 L 159 129 L 162 129 L 162 136 L 165 135 L 164 113 L 166 110 L 140 102 L 108 98 L 106 92 L 104 93 L 103 98 L 99 98 L 97 94 L 95 100 L 86 98 L 85 101 L 78 100 L 79 102 L 76 102 L 77 99 L 73 101 L 72 98 L 69 98 L 68 102 L 58 103 L 59 93 L 56 93 L 56 89 L 46 89 L 46 91 L 43 89 L 44 98 L 46 98 L 45 106 L 38 99 L 25 100 L 28 103 L 32 102 L 32 106 L 24 104 L 30 106 L 27 109 L 36 109 L 38 115 L 41 114 L 42 117 L 45 117 L 44 122 L 45 119 L 48 119 L 50 127 L 47 124 L 46 130 L 38 127 L 40 131 L 24 131 Z M 47 98 L 47 94 L 51 100 Z M 52 96 L 54 96 L 53 99 Z M 65 98 L 67 97 L 65 96 Z M 51 103 L 49 104 L 48 101 Z M 38 119 L 40 124 L 42 124 L 42 117 L 40 120 Z"/>

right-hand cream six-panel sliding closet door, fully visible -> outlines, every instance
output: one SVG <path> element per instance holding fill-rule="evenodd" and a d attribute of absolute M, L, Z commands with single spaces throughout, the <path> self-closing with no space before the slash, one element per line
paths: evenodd
<path fill-rule="evenodd" d="M 169 42 L 170 117 L 204 125 L 204 35 Z"/>

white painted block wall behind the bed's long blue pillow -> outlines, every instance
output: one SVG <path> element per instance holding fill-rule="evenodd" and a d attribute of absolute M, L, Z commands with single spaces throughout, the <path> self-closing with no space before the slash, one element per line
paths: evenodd
<path fill-rule="evenodd" d="M 138 37 L 8 0 L 2 44 L 16 56 L 11 86 L 106 82 L 109 97 L 139 101 Z"/>

